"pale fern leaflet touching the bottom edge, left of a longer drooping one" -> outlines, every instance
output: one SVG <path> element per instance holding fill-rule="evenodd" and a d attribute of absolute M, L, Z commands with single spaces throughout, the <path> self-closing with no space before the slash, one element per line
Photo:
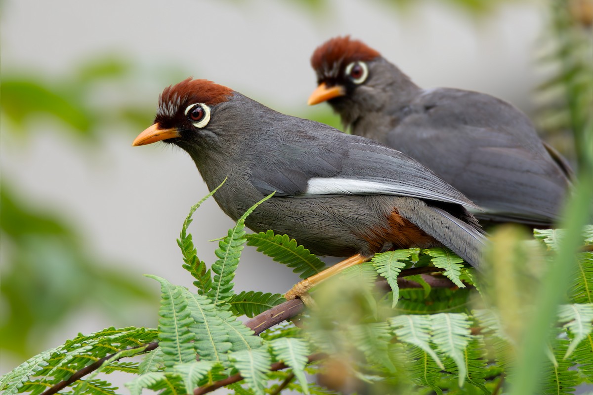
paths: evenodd
<path fill-rule="evenodd" d="M 266 349 L 232 352 L 229 359 L 256 395 L 264 395 L 272 358 Z"/>

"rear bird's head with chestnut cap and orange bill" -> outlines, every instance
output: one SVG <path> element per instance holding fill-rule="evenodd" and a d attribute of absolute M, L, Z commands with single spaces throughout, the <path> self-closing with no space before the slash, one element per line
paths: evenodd
<path fill-rule="evenodd" d="M 369 62 L 381 55 L 362 41 L 349 36 L 335 37 L 321 44 L 311 56 L 311 66 L 317 73 L 317 89 L 308 104 L 329 101 L 335 104 L 349 97 L 371 77 Z"/>

